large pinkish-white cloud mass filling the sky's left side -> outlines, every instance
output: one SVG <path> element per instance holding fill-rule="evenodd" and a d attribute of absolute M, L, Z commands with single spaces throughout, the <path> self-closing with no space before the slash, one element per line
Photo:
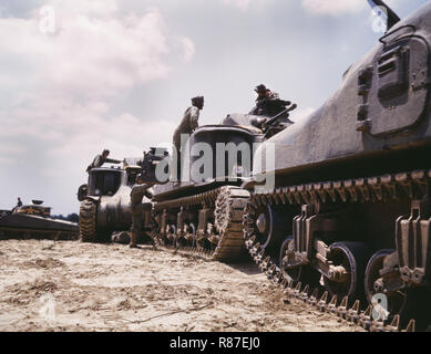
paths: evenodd
<path fill-rule="evenodd" d="M 123 14 L 114 0 L 47 4 L 55 10 L 53 34 L 40 31 L 39 9 L 27 19 L 0 19 L 0 88 L 8 87 L 8 100 L 0 97 L 0 163 L 10 167 L 0 185 L 14 180 L 29 198 L 44 190 L 65 212 L 86 165 L 104 147 L 115 158 L 138 157 L 170 140 L 172 123 L 113 113 L 113 105 L 119 94 L 189 62 L 195 48 L 172 34 L 156 9 Z M 30 168 L 31 180 L 17 176 Z M 13 192 L 2 190 L 3 199 Z"/>

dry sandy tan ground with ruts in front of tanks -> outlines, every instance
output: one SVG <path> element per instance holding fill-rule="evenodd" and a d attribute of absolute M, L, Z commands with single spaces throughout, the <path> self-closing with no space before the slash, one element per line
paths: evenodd
<path fill-rule="evenodd" d="M 283 301 L 252 262 L 228 266 L 152 247 L 7 240 L 0 267 L 0 331 L 361 331 Z"/>

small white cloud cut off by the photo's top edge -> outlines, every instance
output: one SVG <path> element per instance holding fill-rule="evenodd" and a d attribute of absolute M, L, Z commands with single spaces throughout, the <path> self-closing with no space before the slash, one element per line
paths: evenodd
<path fill-rule="evenodd" d="M 368 7 L 365 0 L 301 0 L 302 8 L 314 14 L 339 15 L 357 12 Z"/>

